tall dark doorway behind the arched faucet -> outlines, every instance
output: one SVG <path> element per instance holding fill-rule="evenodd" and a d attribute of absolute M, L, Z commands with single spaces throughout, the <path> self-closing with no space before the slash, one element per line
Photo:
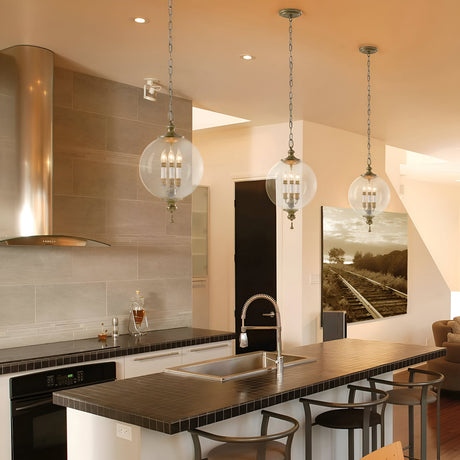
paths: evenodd
<path fill-rule="evenodd" d="M 235 331 L 241 330 L 243 305 L 254 294 L 276 300 L 276 207 L 265 192 L 265 180 L 235 183 Z M 270 302 L 251 304 L 246 325 L 273 326 Z M 236 353 L 276 349 L 276 331 L 248 331 L 249 346 Z"/>

